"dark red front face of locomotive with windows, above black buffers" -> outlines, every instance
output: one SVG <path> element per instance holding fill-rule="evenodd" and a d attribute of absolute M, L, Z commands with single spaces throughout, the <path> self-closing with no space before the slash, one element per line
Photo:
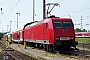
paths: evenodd
<path fill-rule="evenodd" d="M 73 41 L 75 32 L 71 21 L 53 21 L 54 37 L 56 41 Z"/>

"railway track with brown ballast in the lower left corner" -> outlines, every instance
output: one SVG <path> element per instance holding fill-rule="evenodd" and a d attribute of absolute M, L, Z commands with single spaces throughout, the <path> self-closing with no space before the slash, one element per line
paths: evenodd
<path fill-rule="evenodd" d="M 3 45 L 1 42 L 0 49 L 2 50 L 0 52 L 0 60 L 37 60 L 36 58 L 25 55 L 10 47 L 6 48 L 6 46 Z"/>

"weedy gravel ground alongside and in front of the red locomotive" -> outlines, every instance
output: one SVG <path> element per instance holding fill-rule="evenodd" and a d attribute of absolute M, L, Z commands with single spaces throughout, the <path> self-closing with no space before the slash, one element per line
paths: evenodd
<path fill-rule="evenodd" d="M 17 50 L 26 55 L 32 56 L 38 60 L 90 60 L 90 44 L 83 45 L 79 43 L 76 50 L 70 49 L 70 51 L 68 51 L 67 53 L 50 53 L 29 46 L 24 49 L 23 45 L 14 43 L 8 45 L 8 47 L 13 48 L 14 50 Z"/>

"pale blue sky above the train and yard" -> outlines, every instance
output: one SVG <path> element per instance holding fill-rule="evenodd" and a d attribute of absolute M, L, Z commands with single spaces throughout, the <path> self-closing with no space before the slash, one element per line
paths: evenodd
<path fill-rule="evenodd" d="M 60 18 L 72 18 L 74 28 L 81 28 L 82 20 L 82 29 L 90 30 L 90 0 L 46 0 L 46 4 L 48 3 L 60 5 L 54 7 L 51 11 L 52 15 Z M 0 32 L 10 31 L 10 21 L 12 21 L 11 31 L 17 30 L 16 13 L 20 13 L 18 29 L 33 21 L 33 0 L 0 0 L 0 8 L 2 8 L 2 11 L 0 10 Z M 42 19 L 43 0 L 35 0 L 35 21 Z"/>

